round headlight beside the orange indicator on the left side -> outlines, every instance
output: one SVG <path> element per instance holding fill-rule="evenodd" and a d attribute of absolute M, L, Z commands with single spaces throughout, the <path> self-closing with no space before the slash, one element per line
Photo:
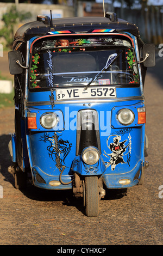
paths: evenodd
<path fill-rule="evenodd" d="M 55 113 L 47 112 L 41 115 L 40 124 L 46 129 L 52 129 L 58 123 L 58 118 Z"/>

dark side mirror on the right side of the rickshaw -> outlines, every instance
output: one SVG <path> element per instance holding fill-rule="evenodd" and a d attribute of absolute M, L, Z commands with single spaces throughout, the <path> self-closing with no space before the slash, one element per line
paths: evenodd
<path fill-rule="evenodd" d="M 148 57 L 146 58 L 148 54 Z M 155 66 L 155 45 L 154 44 L 145 44 L 143 46 L 143 59 L 144 66 L 150 67 Z"/>

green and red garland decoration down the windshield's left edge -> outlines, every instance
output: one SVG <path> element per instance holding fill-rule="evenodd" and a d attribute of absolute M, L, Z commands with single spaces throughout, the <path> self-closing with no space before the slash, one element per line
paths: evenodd
<path fill-rule="evenodd" d="M 33 56 L 32 56 L 32 62 L 33 62 L 33 65 L 32 65 L 32 68 L 30 68 L 30 80 L 32 82 L 31 84 L 31 87 L 33 88 L 40 88 L 38 85 L 37 85 L 37 81 L 36 81 L 36 78 L 38 76 L 38 74 L 36 74 L 36 69 L 38 68 L 37 67 L 37 64 L 39 64 L 39 54 L 38 53 L 35 53 Z"/>

